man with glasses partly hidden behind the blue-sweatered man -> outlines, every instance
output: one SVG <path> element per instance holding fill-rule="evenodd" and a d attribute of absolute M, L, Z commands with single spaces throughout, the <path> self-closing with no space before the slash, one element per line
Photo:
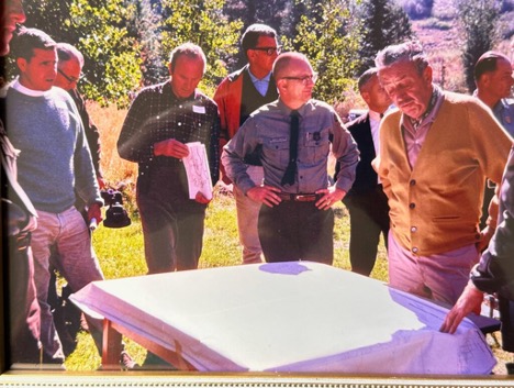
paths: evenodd
<path fill-rule="evenodd" d="M 80 96 L 77 84 L 82 77 L 83 55 L 75 46 L 68 43 L 57 43 L 57 75 L 54 86 L 66 90 L 77 106 L 80 119 L 82 119 L 86 138 L 91 151 L 91 157 L 97 173 L 98 185 L 102 189 L 105 184 L 100 167 L 100 134 L 86 109 L 86 103 Z"/>

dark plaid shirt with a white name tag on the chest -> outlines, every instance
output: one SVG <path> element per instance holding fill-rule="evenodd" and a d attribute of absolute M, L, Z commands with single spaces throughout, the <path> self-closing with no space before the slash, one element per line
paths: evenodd
<path fill-rule="evenodd" d="M 195 91 L 188 99 L 178 99 L 170 81 L 144 88 L 132 103 L 118 141 L 124 159 L 136 162 L 142 175 L 155 167 L 183 169 L 181 160 L 155 156 L 154 144 L 167 138 L 181 143 L 205 144 L 212 184 L 219 178 L 220 118 L 216 103 Z"/>

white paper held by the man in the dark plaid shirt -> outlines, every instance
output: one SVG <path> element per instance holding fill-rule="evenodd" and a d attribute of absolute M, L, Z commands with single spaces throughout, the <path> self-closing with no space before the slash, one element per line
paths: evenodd
<path fill-rule="evenodd" d="M 212 199 L 211 171 L 205 151 L 205 145 L 200 142 L 186 143 L 189 156 L 182 158 L 188 175 L 189 199 L 194 199 L 198 192 Z"/>

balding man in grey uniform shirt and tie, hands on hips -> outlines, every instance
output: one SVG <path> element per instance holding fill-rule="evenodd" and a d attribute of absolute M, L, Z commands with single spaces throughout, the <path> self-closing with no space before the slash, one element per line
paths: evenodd
<path fill-rule="evenodd" d="M 334 109 L 312 99 L 316 81 L 300 53 L 279 55 L 273 64 L 279 99 L 245 121 L 223 148 L 222 163 L 234 185 L 259 203 L 258 233 L 267 262 L 334 259 L 334 212 L 355 180 L 357 144 Z M 331 152 L 340 164 L 329 186 Z M 260 149 L 264 184 L 247 173 L 245 159 Z"/>

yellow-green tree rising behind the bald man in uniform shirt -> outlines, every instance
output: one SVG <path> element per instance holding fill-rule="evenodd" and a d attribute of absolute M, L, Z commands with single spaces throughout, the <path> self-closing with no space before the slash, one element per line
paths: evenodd
<path fill-rule="evenodd" d="M 305 54 L 320 74 L 315 97 L 335 103 L 353 86 L 358 60 L 358 29 L 350 0 L 295 2 L 299 3 L 306 12 L 297 24 L 297 34 L 292 40 L 282 40 L 286 48 Z"/>

